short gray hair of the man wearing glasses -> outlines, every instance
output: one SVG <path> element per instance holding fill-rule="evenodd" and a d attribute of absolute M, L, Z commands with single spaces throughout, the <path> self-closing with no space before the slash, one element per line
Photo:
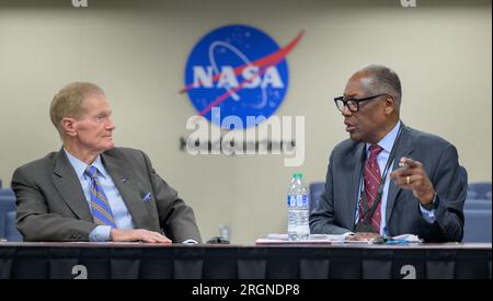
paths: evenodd
<path fill-rule="evenodd" d="M 400 109 L 402 99 L 401 80 L 389 67 L 381 65 L 368 65 L 357 71 L 368 74 L 371 80 L 369 89 L 375 93 L 387 93 L 394 97 L 397 107 Z"/>

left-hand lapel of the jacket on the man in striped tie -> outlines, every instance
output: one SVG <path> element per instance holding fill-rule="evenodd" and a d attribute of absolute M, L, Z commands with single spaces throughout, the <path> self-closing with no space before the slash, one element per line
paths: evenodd
<path fill-rule="evenodd" d="M 82 186 L 64 149 L 60 149 L 55 158 L 51 181 L 73 213 L 81 220 L 92 222 L 92 215 Z"/>

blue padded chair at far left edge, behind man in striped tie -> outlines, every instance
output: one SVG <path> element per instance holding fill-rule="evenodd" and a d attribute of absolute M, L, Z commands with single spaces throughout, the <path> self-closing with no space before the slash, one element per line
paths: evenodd
<path fill-rule="evenodd" d="M 15 228 L 15 195 L 12 189 L 0 189 L 0 239 L 22 241 Z"/>

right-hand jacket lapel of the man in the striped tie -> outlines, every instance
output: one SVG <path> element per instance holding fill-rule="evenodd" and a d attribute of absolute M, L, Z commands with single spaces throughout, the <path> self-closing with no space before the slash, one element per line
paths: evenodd
<path fill-rule="evenodd" d="M 101 154 L 106 172 L 115 183 L 122 198 L 131 215 L 136 228 L 151 229 L 147 222 L 147 209 L 144 206 L 136 177 L 131 167 L 124 160 L 111 157 L 106 153 Z"/>

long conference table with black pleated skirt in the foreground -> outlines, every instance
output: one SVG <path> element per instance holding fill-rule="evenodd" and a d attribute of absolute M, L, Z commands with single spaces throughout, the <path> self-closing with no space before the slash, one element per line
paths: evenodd
<path fill-rule="evenodd" d="M 491 279 L 492 244 L 0 242 L 0 279 Z"/>

